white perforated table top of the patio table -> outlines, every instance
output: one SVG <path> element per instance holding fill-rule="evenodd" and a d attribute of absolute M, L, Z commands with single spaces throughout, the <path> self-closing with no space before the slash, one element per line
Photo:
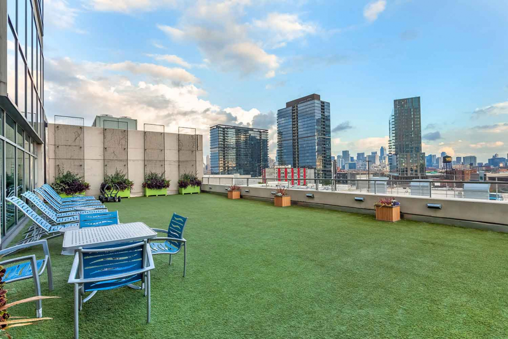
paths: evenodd
<path fill-rule="evenodd" d="M 155 238 L 156 236 L 157 233 L 142 222 L 86 227 L 66 231 L 63 234 L 62 250 L 72 251 L 80 247 L 87 248 L 119 242 L 138 241 Z"/>

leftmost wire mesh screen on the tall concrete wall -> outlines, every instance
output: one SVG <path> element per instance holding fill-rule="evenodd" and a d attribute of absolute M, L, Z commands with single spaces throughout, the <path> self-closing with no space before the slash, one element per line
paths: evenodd
<path fill-rule="evenodd" d="M 55 115 L 56 175 L 70 171 L 85 176 L 84 118 Z"/>

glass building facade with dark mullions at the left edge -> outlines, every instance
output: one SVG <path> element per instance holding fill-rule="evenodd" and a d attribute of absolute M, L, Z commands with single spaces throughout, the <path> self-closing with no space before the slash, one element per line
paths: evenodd
<path fill-rule="evenodd" d="M 0 12 L 0 230 L 2 239 L 23 214 L 5 198 L 21 197 L 43 182 L 44 54 L 42 0 L 4 0 Z M 2 241 L 3 243 L 4 241 Z"/>

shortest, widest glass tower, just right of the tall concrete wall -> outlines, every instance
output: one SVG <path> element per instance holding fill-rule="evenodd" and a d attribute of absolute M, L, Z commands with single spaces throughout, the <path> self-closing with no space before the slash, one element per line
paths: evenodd
<path fill-rule="evenodd" d="M 211 174 L 261 177 L 268 167 L 268 130 L 216 125 L 210 127 Z"/>

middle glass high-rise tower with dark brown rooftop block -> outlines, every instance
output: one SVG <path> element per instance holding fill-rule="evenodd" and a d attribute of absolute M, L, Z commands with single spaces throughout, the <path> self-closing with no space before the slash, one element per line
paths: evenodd
<path fill-rule="evenodd" d="M 278 164 L 332 178 L 330 135 L 330 103 L 316 94 L 287 102 L 277 111 Z"/>

